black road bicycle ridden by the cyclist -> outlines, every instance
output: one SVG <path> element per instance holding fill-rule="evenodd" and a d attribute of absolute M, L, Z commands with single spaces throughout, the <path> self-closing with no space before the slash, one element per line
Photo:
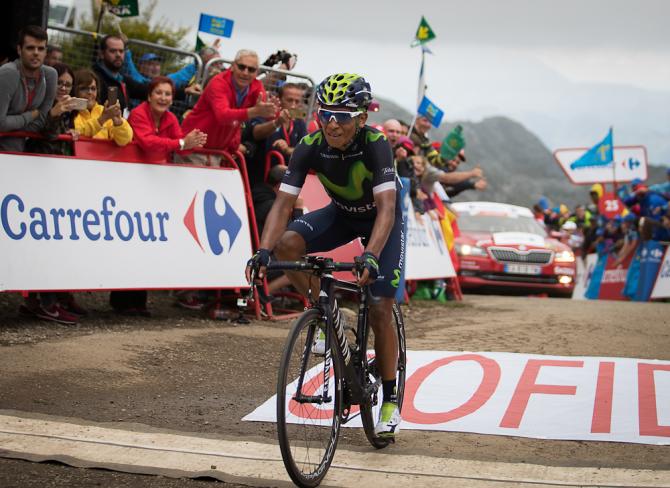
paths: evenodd
<path fill-rule="evenodd" d="M 374 297 L 369 287 L 336 279 L 333 273 L 362 273 L 363 262 L 335 262 L 306 256 L 301 261 L 274 261 L 268 270 L 304 271 L 319 278 L 319 298 L 293 324 L 286 339 L 277 379 L 277 432 L 284 466 L 298 486 L 314 487 L 326 475 L 335 455 L 340 427 L 360 417 L 365 435 L 375 448 L 387 438 L 375 435 L 381 407 L 381 374 L 370 350 L 372 337 L 368 307 Z M 353 292 L 358 299 L 355 327 L 346 330 L 333 320 L 335 291 Z M 311 290 L 308 296 L 311 296 Z M 402 411 L 405 389 L 405 327 L 397 303 L 393 319 L 398 335 L 397 394 Z M 325 350 L 315 340 L 325 333 Z"/>

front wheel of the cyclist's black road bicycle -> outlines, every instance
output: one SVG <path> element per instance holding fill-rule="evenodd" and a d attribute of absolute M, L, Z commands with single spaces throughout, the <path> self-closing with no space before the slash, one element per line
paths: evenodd
<path fill-rule="evenodd" d="M 329 401 L 319 404 L 295 400 L 301 377 L 303 395 L 316 397 L 323 393 L 325 357 L 313 354 L 312 344 L 319 328 L 325 330 L 325 326 L 318 310 L 302 314 L 289 333 L 279 366 L 279 447 L 286 471 L 298 486 L 314 487 L 321 482 L 335 455 L 340 432 L 342 372 L 335 354 L 331 355 Z"/>

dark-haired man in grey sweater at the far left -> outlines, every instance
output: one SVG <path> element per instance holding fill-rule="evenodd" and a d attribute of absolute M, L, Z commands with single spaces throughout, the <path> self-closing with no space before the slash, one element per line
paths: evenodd
<path fill-rule="evenodd" d="M 30 25 L 19 32 L 18 59 L 0 67 L 0 132 L 42 130 L 56 97 L 58 74 L 44 65 L 47 33 Z M 23 137 L 0 138 L 0 151 L 21 152 Z"/>

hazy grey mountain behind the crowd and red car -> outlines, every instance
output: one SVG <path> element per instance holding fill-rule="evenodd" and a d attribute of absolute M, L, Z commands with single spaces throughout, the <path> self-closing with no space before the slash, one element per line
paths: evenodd
<path fill-rule="evenodd" d="M 381 124 L 389 118 L 411 122 L 407 110 L 389 100 L 378 100 L 381 110 L 370 114 L 369 123 Z M 454 121 L 433 129 L 431 138 L 441 141 L 457 124 L 463 126 L 466 141 L 467 162 L 461 168 L 480 165 L 489 187 L 484 192 L 461 193 L 456 200 L 487 200 L 530 207 L 541 196 L 546 196 L 555 206 L 588 203 L 589 187 L 572 185 L 544 143 L 520 123 L 500 116 L 474 123 Z M 665 181 L 665 172 L 663 166 L 650 165 L 648 181 Z"/>

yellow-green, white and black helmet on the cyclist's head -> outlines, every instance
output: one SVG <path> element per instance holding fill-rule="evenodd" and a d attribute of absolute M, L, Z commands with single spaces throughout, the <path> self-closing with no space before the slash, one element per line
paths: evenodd
<path fill-rule="evenodd" d="M 322 107 L 348 107 L 363 112 L 372 101 L 372 90 L 361 75 L 336 73 L 319 84 L 316 99 Z"/>

